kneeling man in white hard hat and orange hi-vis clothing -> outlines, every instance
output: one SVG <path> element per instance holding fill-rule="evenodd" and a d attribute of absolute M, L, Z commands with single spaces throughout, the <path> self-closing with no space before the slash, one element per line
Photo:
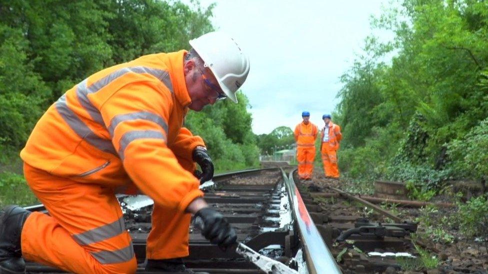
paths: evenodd
<path fill-rule="evenodd" d="M 23 259 L 73 273 L 134 273 L 129 233 L 115 193 L 154 200 L 146 270 L 190 272 L 191 215 L 222 249 L 236 242 L 198 186 L 213 176 L 202 139 L 184 128 L 188 109 L 237 102 L 248 58 L 221 32 L 84 79 L 54 102 L 20 152 L 26 181 L 49 214 L 9 206 L 0 223 L 0 273 L 24 273 Z M 193 174 L 195 162 L 202 178 Z M 22 258 L 23 257 L 23 258 Z"/>

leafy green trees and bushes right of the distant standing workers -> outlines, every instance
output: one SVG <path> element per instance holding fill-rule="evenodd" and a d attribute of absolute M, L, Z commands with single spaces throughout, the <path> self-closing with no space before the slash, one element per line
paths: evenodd
<path fill-rule="evenodd" d="M 398 2 L 372 22 L 394 39 L 368 37 L 341 77 L 339 167 L 356 180 L 420 184 L 418 195 L 453 177 L 485 180 L 488 5 Z"/>

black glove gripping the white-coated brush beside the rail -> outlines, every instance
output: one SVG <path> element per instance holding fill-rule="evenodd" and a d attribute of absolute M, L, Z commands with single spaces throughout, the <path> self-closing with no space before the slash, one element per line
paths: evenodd
<path fill-rule="evenodd" d="M 201 235 L 223 250 L 237 241 L 237 234 L 227 219 L 211 208 L 202 208 L 196 212 L 194 224 L 201 229 Z"/>

